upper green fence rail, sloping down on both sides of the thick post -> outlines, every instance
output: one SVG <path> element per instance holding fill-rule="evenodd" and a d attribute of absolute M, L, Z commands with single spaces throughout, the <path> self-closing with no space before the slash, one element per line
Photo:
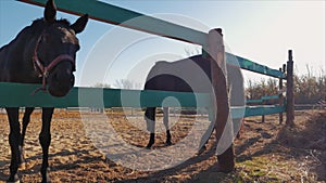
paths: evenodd
<path fill-rule="evenodd" d="M 18 0 L 32 4 L 43 6 L 46 0 Z M 109 3 L 96 0 L 55 0 L 55 4 L 60 11 L 82 15 L 88 13 L 90 18 L 128 27 L 131 29 L 186 41 L 206 48 L 208 34 L 198 31 L 188 27 L 173 24 L 160 18 L 148 16 L 127 9 L 115 6 Z M 138 18 L 137 21 L 130 21 Z M 240 67 L 250 71 L 267 75 L 276 78 L 286 78 L 284 73 L 268 68 L 267 66 L 254 63 L 250 60 L 226 53 L 226 62 L 231 64 L 239 63 Z M 237 64 L 238 65 L 238 64 Z"/>

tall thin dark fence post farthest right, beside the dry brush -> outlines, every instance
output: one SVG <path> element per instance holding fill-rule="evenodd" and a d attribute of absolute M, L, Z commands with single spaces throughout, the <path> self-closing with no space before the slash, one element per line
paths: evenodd
<path fill-rule="evenodd" d="M 287 121 L 286 125 L 294 126 L 294 84 L 293 84 L 293 58 L 292 50 L 289 50 L 289 61 L 287 62 Z"/>

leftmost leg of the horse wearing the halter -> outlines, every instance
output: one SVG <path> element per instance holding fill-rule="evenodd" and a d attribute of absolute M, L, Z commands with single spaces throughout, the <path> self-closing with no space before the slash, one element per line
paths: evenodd
<path fill-rule="evenodd" d="M 5 108 L 9 119 L 10 133 L 9 144 L 11 148 L 10 177 L 8 182 L 18 182 L 17 175 L 20 162 L 21 126 L 18 121 L 18 107 Z"/>

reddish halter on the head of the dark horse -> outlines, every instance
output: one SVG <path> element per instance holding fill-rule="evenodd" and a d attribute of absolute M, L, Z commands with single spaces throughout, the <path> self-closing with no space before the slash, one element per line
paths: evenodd
<path fill-rule="evenodd" d="M 41 34 L 37 40 L 37 43 L 34 49 L 34 55 L 33 55 L 33 64 L 34 64 L 34 69 L 38 74 L 38 77 L 42 78 L 42 86 L 38 89 L 36 89 L 33 94 L 37 93 L 38 91 L 43 91 L 47 92 L 47 78 L 49 76 L 49 73 L 61 62 L 63 61 L 68 61 L 73 64 L 73 67 L 75 67 L 75 60 L 68 55 L 68 54 L 60 54 L 57 56 L 48 66 L 45 66 L 38 58 L 37 55 L 37 50 L 39 47 L 39 43 L 42 39 L 43 34 Z"/>

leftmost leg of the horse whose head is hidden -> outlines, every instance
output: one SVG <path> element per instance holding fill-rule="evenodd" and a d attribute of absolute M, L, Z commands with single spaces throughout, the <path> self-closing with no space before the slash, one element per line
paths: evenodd
<path fill-rule="evenodd" d="M 147 107 L 145 112 L 147 130 L 150 132 L 150 140 L 146 146 L 147 148 L 151 148 L 155 143 L 155 107 Z"/>

